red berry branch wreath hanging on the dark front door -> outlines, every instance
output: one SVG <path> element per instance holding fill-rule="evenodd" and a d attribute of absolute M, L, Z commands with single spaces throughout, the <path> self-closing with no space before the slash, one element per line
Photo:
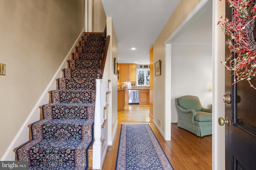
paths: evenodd
<path fill-rule="evenodd" d="M 226 69 L 233 70 L 236 76 L 233 85 L 241 80 L 248 80 L 252 88 L 255 87 L 250 80 L 256 76 L 256 41 L 253 36 L 255 1 L 226 0 L 232 8 L 232 21 L 228 18 L 218 21 L 222 31 L 229 37 L 230 56 L 222 63 L 225 64 Z"/>

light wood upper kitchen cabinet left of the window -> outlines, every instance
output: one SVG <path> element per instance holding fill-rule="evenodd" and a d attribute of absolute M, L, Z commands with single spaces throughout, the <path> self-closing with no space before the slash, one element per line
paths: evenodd
<path fill-rule="evenodd" d="M 120 82 L 136 82 L 136 64 L 120 64 Z"/>

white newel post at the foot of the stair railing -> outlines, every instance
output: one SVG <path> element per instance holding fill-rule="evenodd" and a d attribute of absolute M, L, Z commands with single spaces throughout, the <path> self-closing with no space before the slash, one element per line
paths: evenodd
<path fill-rule="evenodd" d="M 92 169 L 101 170 L 101 79 L 96 79 L 96 101 L 94 113 L 94 143 L 92 147 Z"/>

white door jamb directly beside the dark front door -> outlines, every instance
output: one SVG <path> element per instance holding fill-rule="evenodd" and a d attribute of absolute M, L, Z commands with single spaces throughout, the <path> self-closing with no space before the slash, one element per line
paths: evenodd
<path fill-rule="evenodd" d="M 225 127 L 218 124 L 219 117 L 225 117 L 225 103 L 222 97 L 225 94 L 225 67 L 221 63 L 225 58 L 225 34 L 217 22 L 225 16 L 225 1 L 213 0 L 213 135 L 212 135 L 212 169 L 218 170 L 225 167 Z"/>

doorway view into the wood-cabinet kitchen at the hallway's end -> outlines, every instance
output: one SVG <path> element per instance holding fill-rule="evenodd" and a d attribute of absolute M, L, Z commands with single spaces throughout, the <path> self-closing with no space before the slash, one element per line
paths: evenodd
<path fill-rule="evenodd" d="M 127 71 L 127 65 L 135 65 Z M 150 116 L 150 98 L 153 92 L 149 83 L 151 72 L 150 65 L 145 64 L 119 64 L 118 63 L 118 91 L 124 90 L 124 96 L 118 95 L 118 102 L 122 107 L 118 107 L 118 122 L 152 122 Z M 153 68 L 153 67 L 152 67 Z M 134 75 L 133 81 L 131 78 L 126 80 L 126 74 L 129 72 Z M 152 74 L 153 75 L 153 74 Z M 137 80 L 137 81 L 136 81 Z M 149 86 L 150 85 L 150 86 Z M 121 94 L 122 92 L 120 92 Z M 152 104 L 151 104 L 152 105 Z"/>

